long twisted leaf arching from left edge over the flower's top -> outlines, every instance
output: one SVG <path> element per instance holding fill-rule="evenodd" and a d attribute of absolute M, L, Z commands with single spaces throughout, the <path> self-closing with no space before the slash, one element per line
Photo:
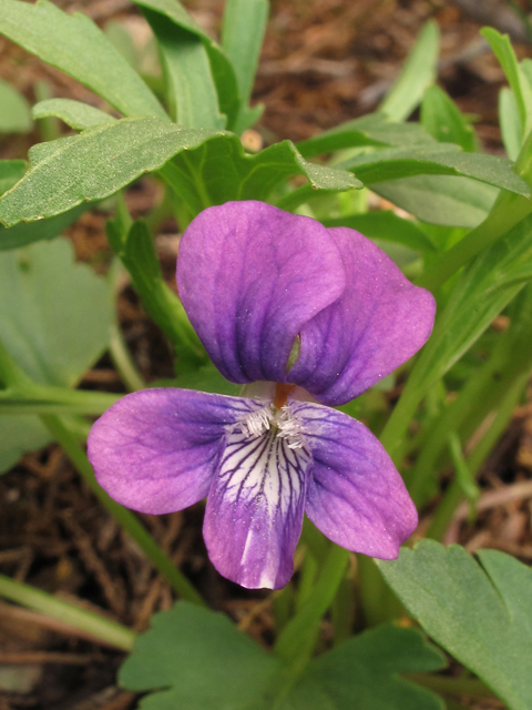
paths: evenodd
<path fill-rule="evenodd" d="M 183 151 L 186 159 L 168 163 Z M 158 119 L 123 119 L 33 146 L 25 178 L 0 200 L 0 220 L 12 226 L 60 214 L 81 202 L 108 197 L 163 165 L 162 174 L 194 214 L 228 200 L 264 200 L 295 174 L 306 175 L 316 189 L 360 185 L 346 171 L 307 163 L 289 141 L 246 155 L 231 133 L 182 129 Z"/>

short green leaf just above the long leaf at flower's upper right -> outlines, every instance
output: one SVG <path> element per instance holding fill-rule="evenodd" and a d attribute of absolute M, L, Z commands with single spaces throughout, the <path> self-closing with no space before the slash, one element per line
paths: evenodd
<path fill-rule="evenodd" d="M 433 144 L 434 139 L 419 123 L 396 123 L 382 113 L 368 113 L 297 143 L 304 158 L 362 145 Z"/>

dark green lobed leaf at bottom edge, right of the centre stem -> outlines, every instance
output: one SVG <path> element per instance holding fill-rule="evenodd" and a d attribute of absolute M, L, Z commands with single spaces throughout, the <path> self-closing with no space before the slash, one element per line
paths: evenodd
<path fill-rule="evenodd" d="M 443 710 L 438 696 L 398 676 L 444 666 L 419 631 L 381 626 L 316 658 L 278 710 Z"/>

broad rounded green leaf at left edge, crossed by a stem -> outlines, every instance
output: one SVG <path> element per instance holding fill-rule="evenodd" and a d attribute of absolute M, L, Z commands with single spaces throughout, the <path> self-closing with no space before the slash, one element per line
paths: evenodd
<path fill-rule="evenodd" d="M 102 276 L 66 240 L 0 253 L 0 341 L 41 384 L 74 386 L 109 344 L 114 307 Z M 0 471 L 50 440 L 35 416 L 0 416 Z"/>

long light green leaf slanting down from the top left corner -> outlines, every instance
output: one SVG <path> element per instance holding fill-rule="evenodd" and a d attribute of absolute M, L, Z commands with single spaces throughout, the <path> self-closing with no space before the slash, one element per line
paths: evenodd
<path fill-rule="evenodd" d="M 103 32 L 84 14 L 48 0 L 0 0 L 0 32 L 78 79 L 124 115 L 167 118 L 161 104 Z"/>

